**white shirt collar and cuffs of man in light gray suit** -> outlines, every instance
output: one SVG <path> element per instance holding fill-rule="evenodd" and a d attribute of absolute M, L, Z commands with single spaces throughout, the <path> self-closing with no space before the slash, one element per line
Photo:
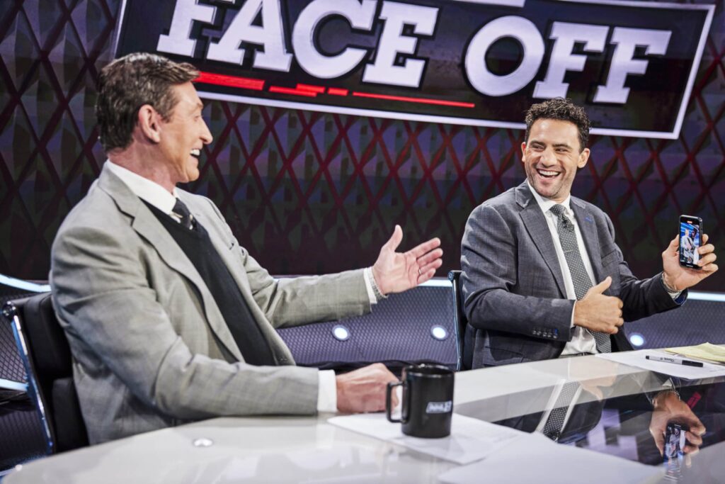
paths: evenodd
<path fill-rule="evenodd" d="M 107 160 L 106 164 L 109 170 L 120 178 L 138 198 L 145 200 L 162 212 L 168 213 L 175 221 L 181 222 L 181 218 L 172 212 L 177 198 L 175 188 L 173 193 L 171 193 L 156 182 L 123 168 L 123 166 L 116 165 L 111 160 Z M 378 300 L 373 291 L 373 283 L 370 280 L 373 277 L 372 270 L 366 268 L 363 271 L 363 276 L 365 279 L 365 289 L 368 291 L 368 298 L 370 298 L 370 304 L 376 304 Z M 320 370 L 318 372 L 318 383 L 318 411 L 336 412 L 337 383 L 334 370 Z"/>

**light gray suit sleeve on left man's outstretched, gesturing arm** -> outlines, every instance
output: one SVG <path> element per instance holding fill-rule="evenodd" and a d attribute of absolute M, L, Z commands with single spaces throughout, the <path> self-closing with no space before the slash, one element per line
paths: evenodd
<path fill-rule="evenodd" d="M 210 204 L 231 243 L 237 247 L 239 263 L 247 273 L 254 301 L 273 327 L 334 321 L 370 312 L 363 269 L 276 279 L 239 245 L 216 205 L 211 201 Z"/>

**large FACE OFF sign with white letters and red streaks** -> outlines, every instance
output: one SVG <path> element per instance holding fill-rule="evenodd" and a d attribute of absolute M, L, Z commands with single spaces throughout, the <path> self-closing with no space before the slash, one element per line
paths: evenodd
<path fill-rule="evenodd" d="M 676 138 L 713 5 L 570 0 L 125 0 L 116 54 L 202 71 L 202 97 L 523 128 L 570 97 L 596 134 Z"/>

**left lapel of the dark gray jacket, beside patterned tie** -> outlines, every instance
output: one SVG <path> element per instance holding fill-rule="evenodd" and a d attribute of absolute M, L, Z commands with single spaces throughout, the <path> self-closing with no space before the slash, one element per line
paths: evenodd
<path fill-rule="evenodd" d="M 522 208 L 519 216 L 521 216 L 526 231 L 529 232 L 529 237 L 531 237 L 531 240 L 536 245 L 537 250 L 539 250 L 544 262 L 554 276 L 554 280 L 562 297 L 566 297 L 564 277 L 561 275 L 559 259 L 554 248 L 554 241 L 551 238 L 551 231 L 546 223 L 546 218 L 544 218 L 544 213 L 539 208 L 539 204 L 534 199 L 534 195 L 531 194 L 531 190 L 526 184 L 526 181 L 516 188 L 516 202 Z"/>

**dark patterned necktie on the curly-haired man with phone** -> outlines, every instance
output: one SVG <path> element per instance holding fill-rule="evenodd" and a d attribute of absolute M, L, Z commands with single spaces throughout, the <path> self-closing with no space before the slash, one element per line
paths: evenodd
<path fill-rule="evenodd" d="M 584 262 L 581 261 L 581 253 L 579 252 L 579 244 L 576 242 L 574 224 L 566 216 L 566 208 L 563 205 L 554 205 L 550 210 L 558 218 L 556 231 L 559 234 L 561 249 L 564 251 L 564 258 L 566 258 L 566 265 L 569 267 L 571 281 L 574 283 L 576 300 L 580 300 L 584 298 L 584 295 L 592 287 L 592 279 L 589 279 L 587 269 L 584 268 Z M 594 336 L 594 340 L 597 343 L 597 350 L 600 353 L 612 352 L 612 342 L 607 333 L 592 331 L 589 331 L 589 333 Z"/>

